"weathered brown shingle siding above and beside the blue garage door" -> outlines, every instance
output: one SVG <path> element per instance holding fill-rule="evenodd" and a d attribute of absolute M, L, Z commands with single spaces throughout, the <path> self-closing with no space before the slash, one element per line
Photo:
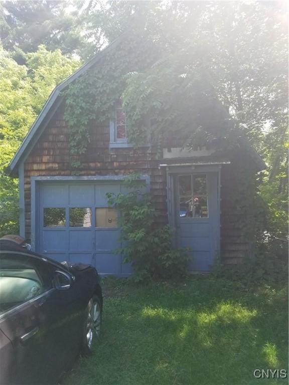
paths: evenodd
<path fill-rule="evenodd" d="M 25 231 L 31 236 L 31 176 L 71 176 L 70 160 L 80 160 L 78 175 L 122 175 L 139 172 L 149 175 L 155 208 L 160 212 L 157 224 L 168 223 L 166 172 L 159 167 L 156 153 L 148 147 L 109 148 L 109 122 L 90 123 L 87 152 L 69 155 L 69 129 L 65 120 L 52 119 L 24 163 Z"/>

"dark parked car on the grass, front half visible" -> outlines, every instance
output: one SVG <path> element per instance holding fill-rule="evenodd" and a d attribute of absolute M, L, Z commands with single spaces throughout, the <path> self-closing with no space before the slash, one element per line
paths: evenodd
<path fill-rule="evenodd" d="M 92 266 L 30 252 L 22 241 L 0 239 L 0 383 L 56 383 L 99 335 L 99 276 Z"/>

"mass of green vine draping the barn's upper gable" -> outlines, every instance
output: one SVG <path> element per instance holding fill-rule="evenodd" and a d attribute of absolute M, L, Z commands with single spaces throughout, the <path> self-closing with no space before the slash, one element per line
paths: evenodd
<path fill-rule="evenodd" d="M 87 149 L 89 122 L 112 117 L 119 100 L 125 109 L 128 141 L 136 146 L 147 142 L 148 121 L 155 144 L 175 136 L 178 127 L 184 145 L 200 127 L 204 105 L 214 110 L 216 122 L 222 109 L 213 107 L 216 96 L 193 60 L 181 48 L 162 48 L 154 40 L 135 36 L 121 37 L 108 47 L 64 92 L 72 166 L 79 167 L 79 155 Z M 208 130 L 203 127 L 203 131 Z"/>

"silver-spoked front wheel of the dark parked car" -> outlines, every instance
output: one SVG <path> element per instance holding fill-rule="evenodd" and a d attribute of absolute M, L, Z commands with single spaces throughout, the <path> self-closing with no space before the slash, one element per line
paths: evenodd
<path fill-rule="evenodd" d="M 82 352 L 84 354 L 90 354 L 92 347 L 99 338 L 101 329 L 101 303 L 97 295 L 90 298 L 86 314 Z"/>

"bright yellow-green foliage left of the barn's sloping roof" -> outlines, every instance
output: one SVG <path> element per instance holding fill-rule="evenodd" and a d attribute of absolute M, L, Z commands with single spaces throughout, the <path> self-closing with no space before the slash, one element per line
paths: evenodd
<path fill-rule="evenodd" d="M 19 232 L 18 181 L 4 171 L 53 88 L 79 61 L 40 46 L 19 65 L 0 46 L 0 235 Z"/>

